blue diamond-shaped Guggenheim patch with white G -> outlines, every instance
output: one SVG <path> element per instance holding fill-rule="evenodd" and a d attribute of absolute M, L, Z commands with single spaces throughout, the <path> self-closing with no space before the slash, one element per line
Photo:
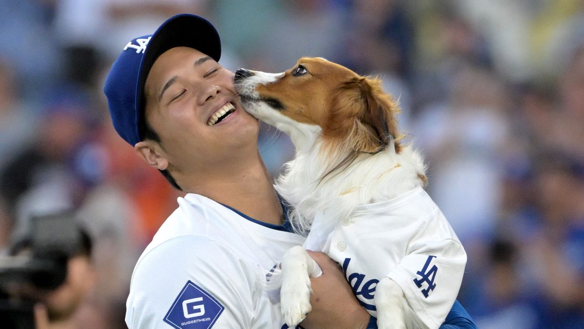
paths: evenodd
<path fill-rule="evenodd" d="M 180 291 L 164 321 L 179 329 L 209 329 L 225 307 L 190 280 Z"/>

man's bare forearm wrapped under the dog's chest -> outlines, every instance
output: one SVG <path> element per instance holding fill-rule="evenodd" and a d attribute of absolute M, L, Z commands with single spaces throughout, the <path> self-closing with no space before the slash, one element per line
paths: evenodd
<path fill-rule="evenodd" d="M 369 313 L 360 306 L 339 264 L 322 252 L 308 254 L 321 267 L 322 275 L 310 278 L 312 311 L 300 325 L 306 329 L 366 328 Z"/>

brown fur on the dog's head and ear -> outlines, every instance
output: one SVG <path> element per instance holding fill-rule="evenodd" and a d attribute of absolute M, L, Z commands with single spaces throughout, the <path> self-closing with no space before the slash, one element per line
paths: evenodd
<path fill-rule="evenodd" d="M 293 76 L 298 65 L 308 73 Z M 303 57 L 277 83 L 260 85 L 257 91 L 262 97 L 279 100 L 283 115 L 321 126 L 325 148 L 331 153 L 339 154 L 339 148 L 356 154 L 377 153 L 391 139 L 399 153 L 403 138 L 395 118 L 399 109 L 380 83 L 378 78 L 361 77 L 339 64 Z"/>

